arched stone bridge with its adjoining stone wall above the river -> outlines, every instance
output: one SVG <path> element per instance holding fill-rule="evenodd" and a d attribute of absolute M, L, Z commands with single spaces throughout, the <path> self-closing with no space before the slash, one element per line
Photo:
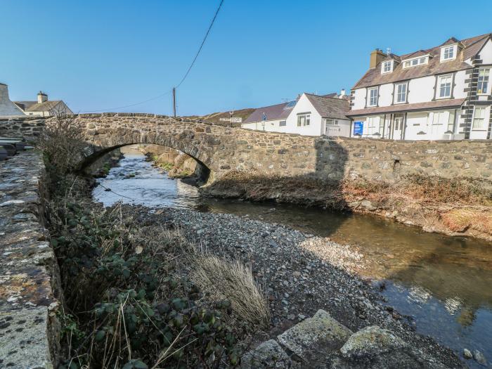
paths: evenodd
<path fill-rule="evenodd" d="M 53 119 L 53 118 L 51 118 Z M 0 119 L 0 136 L 37 136 L 50 119 Z M 81 167 L 110 150 L 136 143 L 176 148 L 194 157 L 211 176 L 257 170 L 282 176 L 393 182 L 402 174 L 492 179 L 492 141 L 389 141 L 299 136 L 224 127 L 199 119 L 103 113 L 76 115 L 88 143 Z"/>

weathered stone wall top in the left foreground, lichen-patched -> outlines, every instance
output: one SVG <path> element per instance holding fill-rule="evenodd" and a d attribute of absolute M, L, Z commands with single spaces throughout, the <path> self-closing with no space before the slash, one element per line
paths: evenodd
<path fill-rule="evenodd" d="M 60 274 L 44 228 L 41 153 L 0 163 L 0 368 L 55 368 Z"/>

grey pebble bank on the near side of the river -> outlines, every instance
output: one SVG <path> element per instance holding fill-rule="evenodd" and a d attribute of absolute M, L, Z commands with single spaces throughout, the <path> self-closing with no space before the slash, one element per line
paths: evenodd
<path fill-rule="evenodd" d="M 416 350 L 413 359 L 408 360 L 416 360 L 409 363 L 418 363 L 418 366 L 408 364 L 408 368 L 463 367 L 450 349 L 441 347 L 429 337 L 417 335 L 405 317 L 384 304 L 377 286 L 372 287 L 368 280 L 356 276 L 357 271 L 365 268 L 363 254 L 348 245 L 339 245 L 328 238 L 304 234 L 287 226 L 253 221 L 247 216 L 184 209 L 125 208 L 125 211 L 137 214 L 141 226 L 164 224 L 181 228 L 187 238 L 207 252 L 239 258 L 251 266 L 255 278 L 264 286 L 272 323 L 271 329 L 254 335 L 252 349 L 282 335 L 322 309 L 351 332 L 373 325 L 393 332 Z M 287 352 L 292 350 L 287 349 Z M 302 362 L 295 356 L 291 359 L 295 363 Z M 378 367 L 372 363 L 369 368 Z"/>

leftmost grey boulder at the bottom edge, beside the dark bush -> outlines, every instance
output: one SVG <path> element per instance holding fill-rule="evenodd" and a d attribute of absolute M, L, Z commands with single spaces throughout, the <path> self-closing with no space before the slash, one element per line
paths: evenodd
<path fill-rule="evenodd" d="M 241 358 L 241 369 L 289 368 L 289 356 L 275 340 L 270 339 L 256 349 L 248 351 Z"/>

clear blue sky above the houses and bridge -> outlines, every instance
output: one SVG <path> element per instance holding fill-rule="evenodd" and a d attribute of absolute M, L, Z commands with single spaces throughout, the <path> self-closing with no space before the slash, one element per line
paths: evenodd
<path fill-rule="evenodd" d="M 219 0 L 0 0 L 0 82 L 75 112 L 145 101 L 181 80 Z M 492 32 L 492 1 L 225 0 L 188 79 L 180 115 L 347 90 L 374 48 L 408 53 Z M 171 113 L 171 97 L 117 110 Z"/>

